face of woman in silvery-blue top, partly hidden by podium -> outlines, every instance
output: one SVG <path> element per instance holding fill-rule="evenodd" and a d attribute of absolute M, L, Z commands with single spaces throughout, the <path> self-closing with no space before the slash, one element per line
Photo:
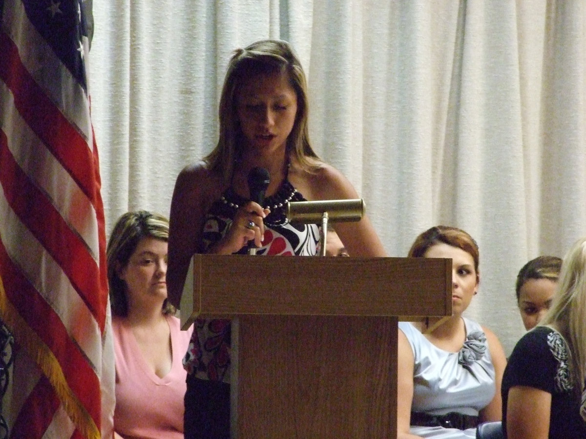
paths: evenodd
<path fill-rule="evenodd" d="M 478 290 L 478 277 L 472 255 L 442 242 L 428 248 L 425 258 L 452 259 L 452 315 L 462 314 Z"/>

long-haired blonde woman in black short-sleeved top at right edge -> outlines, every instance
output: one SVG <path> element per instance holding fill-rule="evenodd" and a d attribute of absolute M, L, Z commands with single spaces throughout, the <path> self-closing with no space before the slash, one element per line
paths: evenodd
<path fill-rule="evenodd" d="M 517 342 L 502 384 L 509 439 L 586 438 L 586 238 L 561 266 L 541 323 Z"/>

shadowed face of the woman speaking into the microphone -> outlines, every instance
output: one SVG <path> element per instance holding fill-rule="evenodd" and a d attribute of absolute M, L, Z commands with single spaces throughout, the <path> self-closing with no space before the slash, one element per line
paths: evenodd
<path fill-rule="evenodd" d="M 248 148 L 269 152 L 285 148 L 297 115 L 297 93 L 287 74 L 248 79 L 240 88 L 236 107 Z"/>

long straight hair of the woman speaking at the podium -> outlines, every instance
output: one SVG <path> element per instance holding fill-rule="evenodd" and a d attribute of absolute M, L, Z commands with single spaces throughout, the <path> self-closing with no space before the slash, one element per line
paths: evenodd
<path fill-rule="evenodd" d="M 307 84 L 301 63 L 287 42 L 261 40 L 233 52 L 220 97 L 220 136 L 216 148 L 203 159 L 211 171 L 222 176 L 224 184 L 230 182 L 234 162 L 240 159 L 242 133 L 237 117 L 240 88 L 255 76 L 282 73 L 288 75 L 297 94 L 297 115 L 287 138 L 288 159 L 294 159 L 309 171 L 318 166 L 319 157 L 309 144 Z"/>

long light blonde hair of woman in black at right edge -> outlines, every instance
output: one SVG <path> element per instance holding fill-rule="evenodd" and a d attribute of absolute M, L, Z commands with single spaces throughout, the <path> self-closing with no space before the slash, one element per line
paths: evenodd
<path fill-rule="evenodd" d="M 570 349 L 570 373 L 576 392 L 586 378 L 586 237 L 564 256 L 553 303 L 539 325 L 553 324 Z"/>

